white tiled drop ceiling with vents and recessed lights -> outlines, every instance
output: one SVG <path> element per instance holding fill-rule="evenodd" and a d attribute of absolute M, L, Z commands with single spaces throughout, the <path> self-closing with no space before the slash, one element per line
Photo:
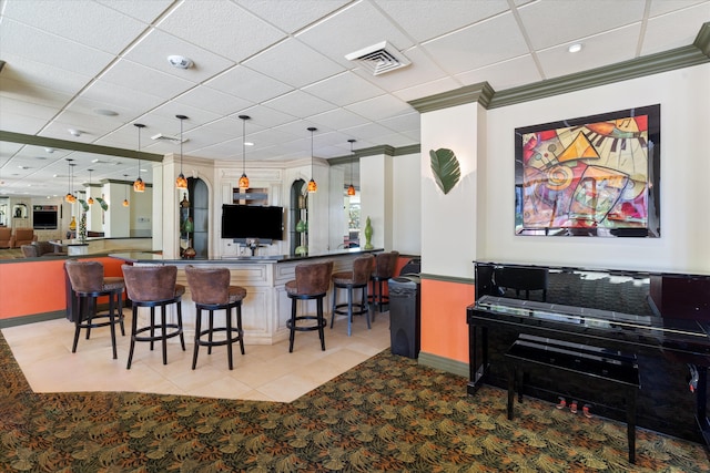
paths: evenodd
<path fill-rule="evenodd" d="M 692 44 L 710 0 L 0 0 L 0 131 L 242 161 L 332 158 L 419 143 L 408 101 L 500 91 Z M 387 41 L 412 64 L 373 75 L 345 55 Z M 580 52 L 567 51 L 581 43 Z M 170 54 L 190 58 L 174 69 Z M 114 111 L 104 116 L 98 110 Z M 78 130 L 75 137 L 69 130 Z M 0 143 L 0 195 L 132 181 L 132 160 Z M 100 162 L 92 163 L 99 158 Z M 26 168 L 22 168 L 26 167 Z M 150 166 L 142 177 L 151 182 Z M 58 175 L 59 177 L 53 177 Z M 128 177 L 124 177 L 128 175 Z"/>

